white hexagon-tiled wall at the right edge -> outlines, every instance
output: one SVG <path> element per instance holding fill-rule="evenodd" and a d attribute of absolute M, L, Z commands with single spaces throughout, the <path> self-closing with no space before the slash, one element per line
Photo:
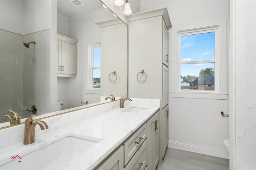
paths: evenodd
<path fill-rule="evenodd" d="M 235 7 L 236 170 L 256 170 L 256 0 Z"/>

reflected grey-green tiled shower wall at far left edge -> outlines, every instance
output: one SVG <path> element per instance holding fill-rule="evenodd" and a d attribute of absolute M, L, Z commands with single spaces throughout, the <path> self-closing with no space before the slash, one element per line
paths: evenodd
<path fill-rule="evenodd" d="M 23 36 L 0 29 L 0 116 L 23 113 Z"/>

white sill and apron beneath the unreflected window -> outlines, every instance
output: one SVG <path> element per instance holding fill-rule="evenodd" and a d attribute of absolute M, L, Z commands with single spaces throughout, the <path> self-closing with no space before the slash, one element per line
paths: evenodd
<path fill-rule="evenodd" d="M 216 100 L 227 100 L 227 93 L 200 93 L 200 92 L 172 92 L 172 97 L 180 98 L 192 98 L 192 99 L 216 99 Z"/>

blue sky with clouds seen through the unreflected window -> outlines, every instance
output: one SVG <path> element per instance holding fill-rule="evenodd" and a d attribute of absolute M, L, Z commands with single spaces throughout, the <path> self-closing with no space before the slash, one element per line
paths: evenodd
<path fill-rule="evenodd" d="M 180 61 L 214 60 L 214 32 L 181 36 Z M 214 69 L 214 63 L 182 64 L 181 75 L 198 76 L 201 69 Z"/>

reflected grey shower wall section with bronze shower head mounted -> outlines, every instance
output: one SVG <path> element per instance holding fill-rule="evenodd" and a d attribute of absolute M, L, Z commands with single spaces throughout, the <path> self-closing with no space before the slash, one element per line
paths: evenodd
<path fill-rule="evenodd" d="M 50 30 L 24 36 L 31 41 L 36 44 L 24 49 L 24 109 L 36 105 L 39 113 L 50 113 Z"/>

